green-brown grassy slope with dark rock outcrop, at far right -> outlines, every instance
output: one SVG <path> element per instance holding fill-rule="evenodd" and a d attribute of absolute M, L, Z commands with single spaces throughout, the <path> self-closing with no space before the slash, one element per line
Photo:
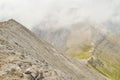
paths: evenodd
<path fill-rule="evenodd" d="M 88 63 L 91 67 L 111 80 L 120 79 L 120 38 L 110 34 L 104 36 L 93 52 Z"/>

